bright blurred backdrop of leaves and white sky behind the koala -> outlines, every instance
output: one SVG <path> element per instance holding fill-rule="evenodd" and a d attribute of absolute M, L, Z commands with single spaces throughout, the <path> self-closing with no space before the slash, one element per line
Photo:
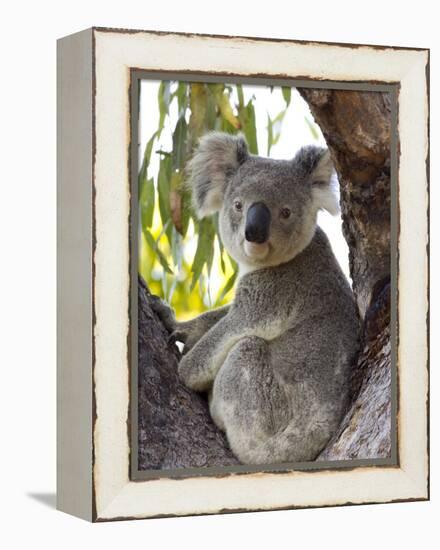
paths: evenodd
<path fill-rule="evenodd" d="M 251 153 L 279 159 L 292 158 L 303 145 L 325 146 L 295 88 L 141 81 L 139 273 L 181 320 L 230 302 L 238 276 L 216 216 L 198 221 L 183 185 L 185 165 L 210 130 L 241 132 Z M 320 212 L 318 223 L 350 281 L 340 216 Z"/>

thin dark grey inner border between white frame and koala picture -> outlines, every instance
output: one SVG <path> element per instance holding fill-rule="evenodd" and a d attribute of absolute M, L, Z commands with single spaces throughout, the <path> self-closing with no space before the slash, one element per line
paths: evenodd
<path fill-rule="evenodd" d="M 170 470 L 138 469 L 138 131 L 139 100 L 141 80 L 180 80 L 187 82 L 227 82 L 252 85 L 290 86 L 293 88 L 320 88 L 388 92 L 391 94 L 391 457 L 385 459 L 356 459 L 322 462 L 298 462 L 252 466 L 237 465 L 207 468 L 179 468 Z M 286 75 L 238 75 L 230 73 L 170 72 L 130 69 L 130 327 L 128 335 L 130 400 L 128 411 L 128 436 L 130 441 L 130 471 L 132 481 L 162 479 L 186 479 L 191 477 L 225 477 L 229 475 L 254 474 L 256 472 L 288 474 L 293 471 L 307 471 L 310 474 L 325 470 L 352 470 L 365 467 L 399 467 L 398 457 L 398 82 L 331 81 L 313 80 Z"/>

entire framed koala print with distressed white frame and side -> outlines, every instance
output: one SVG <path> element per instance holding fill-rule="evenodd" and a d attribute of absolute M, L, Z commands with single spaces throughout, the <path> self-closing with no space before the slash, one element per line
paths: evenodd
<path fill-rule="evenodd" d="M 429 51 L 58 42 L 58 508 L 429 498 Z"/>

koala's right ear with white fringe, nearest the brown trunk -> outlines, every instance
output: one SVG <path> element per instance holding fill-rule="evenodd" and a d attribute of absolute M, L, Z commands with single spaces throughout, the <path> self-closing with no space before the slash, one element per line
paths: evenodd
<path fill-rule="evenodd" d="M 336 189 L 332 185 L 333 162 L 328 149 L 303 147 L 294 159 L 301 165 L 312 186 L 313 203 L 318 210 L 327 210 L 333 216 L 339 213 Z"/>

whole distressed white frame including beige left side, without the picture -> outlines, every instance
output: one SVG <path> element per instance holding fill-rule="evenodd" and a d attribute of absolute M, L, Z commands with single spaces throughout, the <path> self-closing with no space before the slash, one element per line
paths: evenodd
<path fill-rule="evenodd" d="M 398 463 L 130 477 L 131 72 L 398 85 Z M 58 508 L 89 521 L 429 498 L 429 51 L 93 28 L 58 43 Z"/>

